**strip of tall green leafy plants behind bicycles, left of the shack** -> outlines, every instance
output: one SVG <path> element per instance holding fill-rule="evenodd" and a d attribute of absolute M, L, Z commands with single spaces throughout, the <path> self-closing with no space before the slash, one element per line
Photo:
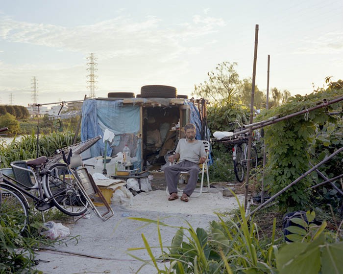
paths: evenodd
<path fill-rule="evenodd" d="M 56 149 L 73 144 L 74 134 L 71 132 L 51 133 L 39 136 L 39 157 L 51 156 Z M 77 140 L 79 141 L 79 139 Z M 20 140 L 13 139 L 9 145 L 0 143 L 0 156 L 2 168 L 9 167 L 12 161 L 35 159 L 37 157 L 37 136 L 27 135 Z"/>

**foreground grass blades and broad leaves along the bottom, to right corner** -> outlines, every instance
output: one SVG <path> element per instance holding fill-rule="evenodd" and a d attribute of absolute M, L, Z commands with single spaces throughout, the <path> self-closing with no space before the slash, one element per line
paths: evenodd
<path fill-rule="evenodd" d="M 233 193 L 234 194 L 234 193 Z M 237 199 L 237 196 L 235 196 Z M 239 201 L 237 199 L 239 204 Z M 244 207 L 239 204 L 239 213 L 231 218 L 217 214 L 219 221 L 212 221 L 210 228 L 186 226 L 172 227 L 176 232 L 170 246 L 163 246 L 161 227 L 171 227 L 160 220 L 143 218 L 129 219 L 154 224 L 158 229 L 159 246 L 151 247 L 142 234 L 144 247 L 130 248 L 129 252 L 146 250 L 150 259 L 145 260 L 129 253 L 143 265 L 153 265 L 160 274 L 340 274 L 343 273 L 343 241 L 326 231 L 326 222 L 316 226 L 302 219 L 292 219 L 304 227 L 289 227 L 294 235 L 293 243 L 284 243 L 283 237 L 276 238 L 276 219 L 268 237 L 253 221 L 245 217 Z M 306 213 L 309 222 L 316 217 L 314 212 Z M 342 224 L 341 224 L 342 225 Z M 340 228 L 337 228 L 339 231 Z M 296 236 L 295 236 L 296 235 Z M 160 250 L 155 256 L 153 249 Z M 165 264 L 157 264 L 157 262 Z"/>

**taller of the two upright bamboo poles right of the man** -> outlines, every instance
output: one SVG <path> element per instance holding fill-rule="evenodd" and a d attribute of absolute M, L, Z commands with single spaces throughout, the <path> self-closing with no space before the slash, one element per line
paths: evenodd
<path fill-rule="evenodd" d="M 255 50 L 254 50 L 254 64 L 252 68 L 252 89 L 251 89 L 250 121 L 249 121 L 250 124 L 252 123 L 252 120 L 254 117 L 257 45 L 258 45 L 258 24 L 255 25 Z M 248 141 L 247 166 L 246 166 L 246 178 L 245 178 L 245 200 L 244 200 L 245 210 L 248 205 L 249 177 L 250 177 L 250 166 L 251 166 L 251 143 L 252 143 L 252 128 L 249 128 L 249 141 Z"/>

